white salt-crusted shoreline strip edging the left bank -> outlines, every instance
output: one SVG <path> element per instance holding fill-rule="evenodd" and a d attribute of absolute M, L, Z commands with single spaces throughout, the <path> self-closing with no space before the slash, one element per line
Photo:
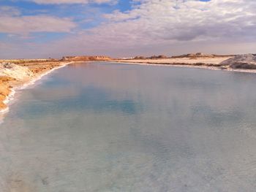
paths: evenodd
<path fill-rule="evenodd" d="M 2 122 L 2 119 L 4 118 L 4 115 L 6 115 L 7 112 L 9 112 L 9 110 L 10 110 L 9 109 L 10 101 L 15 99 L 16 91 L 20 91 L 20 90 L 29 88 L 29 86 L 34 85 L 36 82 L 41 80 L 42 77 L 45 77 L 48 74 L 50 74 L 51 72 L 54 72 L 55 70 L 61 69 L 61 68 L 65 67 L 69 64 L 72 64 L 72 63 L 74 63 L 74 62 L 71 61 L 71 62 L 68 62 L 68 63 L 63 63 L 63 64 L 60 64 L 59 66 L 54 67 L 53 69 L 50 69 L 46 72 L 42 72 L 41 74 L 35 74 L 35 76 L 31 78 L 31 80 L 23 82 L 23 83 L 21 83 L 21 85 L 14 85 L 12 88 L 10 88 L 10 93 L 6 96 L 6 98 L 3 101 L 3 103 L 6 104 L 7 107 L 0 110 L 0 123 Z"/>

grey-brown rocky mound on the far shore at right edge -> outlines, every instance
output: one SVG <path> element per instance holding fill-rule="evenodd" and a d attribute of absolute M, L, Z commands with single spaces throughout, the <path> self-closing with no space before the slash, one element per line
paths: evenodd
<path fill-rule="evenodd" d="M 236 55 L 220 64 L 229 66 L 231 69 L 256 69 L 256 56 L 253 54 Z"/>

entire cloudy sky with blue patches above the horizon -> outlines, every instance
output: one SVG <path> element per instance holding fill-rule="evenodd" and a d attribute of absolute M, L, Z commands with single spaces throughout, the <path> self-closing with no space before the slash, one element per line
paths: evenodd
<path fill-rule="evenodd" d="M 0 58 L 256 53 L 255 0 L 0 0 Z"/>

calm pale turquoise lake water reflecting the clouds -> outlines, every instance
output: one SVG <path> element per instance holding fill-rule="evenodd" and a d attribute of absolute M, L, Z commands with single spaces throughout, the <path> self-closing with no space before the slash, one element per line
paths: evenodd
<path fill-rule="evenodd" d="M 255 191 L 256 74 L 76 64 L 0 126 L 0 191 Z"/>

